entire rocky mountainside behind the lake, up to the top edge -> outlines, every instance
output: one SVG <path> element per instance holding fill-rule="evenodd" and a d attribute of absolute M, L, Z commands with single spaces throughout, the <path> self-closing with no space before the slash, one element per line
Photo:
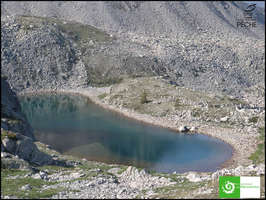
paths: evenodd
<path fill-rule="evenodd" d="M 2 2 L 2 72 L 15 91 L 163 76 L 241 96 L 265 79 L 265 14 L 256 8 L 258 26 L 244 31 L 235 22 L 243 9 L 239 2 Z"/>

